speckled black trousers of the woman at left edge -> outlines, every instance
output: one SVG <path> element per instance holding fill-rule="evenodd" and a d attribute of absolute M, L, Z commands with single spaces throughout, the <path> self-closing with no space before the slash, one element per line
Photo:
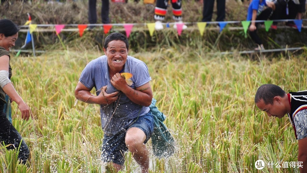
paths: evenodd
<path fill-rule="evenodd" d="M 14 128 L 14 126 L 10 123 L 10 121 L 6 118 L 6 115 L 0 112 L 0 142 L 1 144 L 9 145 L 6 147 L 7 149 L 15 149 L 19 147 L 18 159 L 21 160 L 21 163 L 25 164 L 29 158 L 30 151 L 25 143 L 22 140 L 22 137 Z"/>

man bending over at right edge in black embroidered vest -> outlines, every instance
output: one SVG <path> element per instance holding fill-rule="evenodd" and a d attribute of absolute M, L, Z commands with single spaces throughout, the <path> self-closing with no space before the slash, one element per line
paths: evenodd
<path fill-rule="evenodd" d="M 282 118 L 288 114 L 298 140 L 300 172 L 307 172 L 307 91 L 287 94 L 277 85 L 265 84 L 258 88 L 255 104 L 268 116 Z"/>

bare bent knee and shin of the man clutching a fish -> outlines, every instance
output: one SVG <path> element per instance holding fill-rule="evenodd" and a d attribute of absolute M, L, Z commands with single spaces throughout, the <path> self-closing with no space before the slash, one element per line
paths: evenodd
<path fill-rule="evenodd" d="M 141 166 L 142 173 L 148 173 L 149 170 L 149 154 L 144 141 L 146 140 L 145 133 L 136 127 L 129 128 L 125 143 L 128 150 L 133 154 L 135 161 Z"/>

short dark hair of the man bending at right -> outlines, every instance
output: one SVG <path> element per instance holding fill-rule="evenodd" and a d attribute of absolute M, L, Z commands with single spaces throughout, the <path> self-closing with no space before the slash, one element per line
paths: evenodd
<path fill-rule="evenodd" d="M 261 85 L 255 95 L 255 103 L 258 103 L 261 99 L 265 104 L 273 104 L 275 96 L 284 97 L 286 92 L 277 85 L 264 84 Z"/>

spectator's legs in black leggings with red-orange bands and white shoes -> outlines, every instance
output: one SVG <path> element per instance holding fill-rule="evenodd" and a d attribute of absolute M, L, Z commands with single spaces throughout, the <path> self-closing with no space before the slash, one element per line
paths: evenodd
<path fill-rule="evenodd" d="M 175 20 L 174 28 L 177 28 L 176 23 L 182 23 L 182 8 L 181 0 L 171 0 L 173 7 L 173 19 Z M 163 29 L 162 21 L 165 19 L 166 9 L 168 6 L 167 0 L 157 0 L 157 5 L 154 9 L 154 19 L 156 20 L 155 29 Z M 187 29 L 186 25 L 182 26 L 182 29 Z"/>

